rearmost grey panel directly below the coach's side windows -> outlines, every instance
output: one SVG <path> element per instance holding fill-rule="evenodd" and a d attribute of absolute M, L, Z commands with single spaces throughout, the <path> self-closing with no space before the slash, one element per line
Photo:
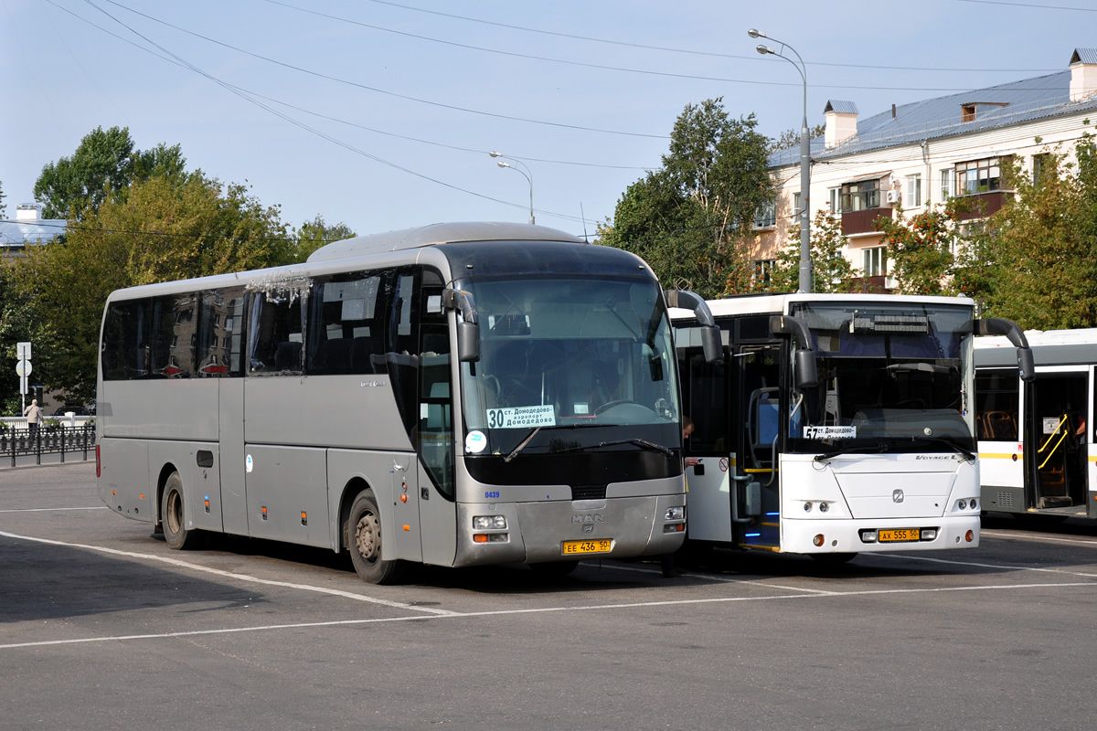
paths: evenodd
<path fill-rule="evenodd" d="M 217 378 L 106 381 L 103 435 L 216 442 Z"/>

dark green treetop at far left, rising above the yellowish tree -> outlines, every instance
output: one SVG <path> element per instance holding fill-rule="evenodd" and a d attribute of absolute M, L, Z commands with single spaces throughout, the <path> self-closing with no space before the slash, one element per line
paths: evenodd
<path fill-rule="evenodd" d="M 186 160 L 178 145 L 163 142 L 151 150 L 134 147 L 128 127 L 95 127 L 80 140 L 71 158 L 47 163 L 34 184 L 34 198 L 44 204 L 44 218 L 82 217 L 109 197 L 124 194 L 137 180 L 154 174 L 181 176 Z"/>

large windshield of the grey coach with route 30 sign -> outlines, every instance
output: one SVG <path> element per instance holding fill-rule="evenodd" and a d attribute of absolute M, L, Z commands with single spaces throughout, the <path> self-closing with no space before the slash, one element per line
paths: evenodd
<path fill-rule="evenodd" d="M 480 332 L 479 361 L 462 364 L 466 454 L 507 456 L 534 430 L 527 453 L 614 441 L 579 427 L 627 425 L 630 438 L 615 435 L 621 448 L 676 434 L 675 351 L 654 279 L 484 277 L 455 286 L 473 294 Z"/>

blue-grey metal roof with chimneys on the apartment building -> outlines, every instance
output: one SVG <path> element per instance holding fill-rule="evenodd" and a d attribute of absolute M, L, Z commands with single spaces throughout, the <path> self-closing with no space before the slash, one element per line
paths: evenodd
<path fill-rule="evenodd" d="M 1097 62 L 1097 49 L 1078 48 L 1073 58 L 1081 62 Z M 1092 59 L 1092 60 L 1086 60 Z M 1075 61 L 1072 61 L 1075 62 Z M 849 139 L 825 147 L 824 138 L 811 140 L 813 159 L 863 152 L 866 150 L 909 145 L 924 139 L 936 139 L 972 132 L 1031 122 L 1097 110 L 1097 94 L 1077 102 L 1070 101 L 1071 71 L 1056 71 L 1047 76 L 1022 79 L 985 89 L 974 89 L 920 102 L 902 104 L 871 117 L 858 119 L 857 134 Z M 827 102 L 827 111 L 845 111 L 851 102 Z M 964 122 L 963 107 L 975 106 L 975 118 Z M 856 106 L 853 106 L 856 111 Z M 798 164 L 800 148 L 778 150 L 769 156 L 769 165 Z"/>

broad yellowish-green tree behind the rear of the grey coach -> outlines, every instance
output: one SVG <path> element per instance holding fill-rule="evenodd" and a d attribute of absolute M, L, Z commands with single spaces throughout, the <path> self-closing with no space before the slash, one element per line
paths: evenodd
<path fill-rule="evenodd" d="M 33 297 L 44 333 L 44 344 L 35 346 L 43 382 L 66 398 L 88 400 L 112 290 L 284 264 L 294 256 L 278 207 L 262 206 L 244 186 L 201 172 L 154 174 L 98 209 L 89 205 L 83 220 L 69 221 L 64 241 L 30 248 L 12 274 L 15 290 Z"/>

